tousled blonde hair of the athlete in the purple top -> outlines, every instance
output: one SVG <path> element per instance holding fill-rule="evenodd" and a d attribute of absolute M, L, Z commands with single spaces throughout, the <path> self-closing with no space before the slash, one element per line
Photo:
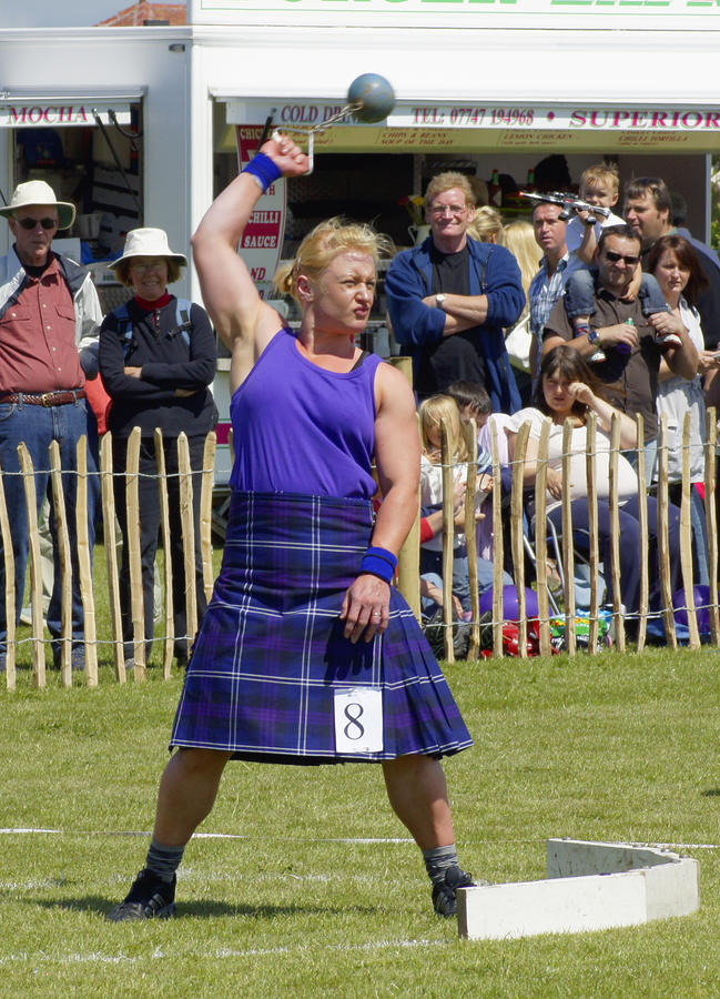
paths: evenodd
<path fill-rule="evenodd" d="M 375 269 L 381 256 L 392 256 L 393 241 L 372 225 L 364 222 L 348 222 L 335 215 L 321 222 L 307 233 L 300 244 L 295 260 L 278 268 L 273 279 L 274 287 L 283 295 L 292 295 L 296 301 L 297 279 L 301 274 L 317 281 L 323 271 L 339 254 L 348 250 L 369 253 L 375 261 Z"/>

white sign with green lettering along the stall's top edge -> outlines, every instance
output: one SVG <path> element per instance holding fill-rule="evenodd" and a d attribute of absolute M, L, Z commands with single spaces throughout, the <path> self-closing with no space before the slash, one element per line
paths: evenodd
<path fill-rule="evenodd" d="M 189 0 L 191 24 L 720 30 L 717 0 Z"/>

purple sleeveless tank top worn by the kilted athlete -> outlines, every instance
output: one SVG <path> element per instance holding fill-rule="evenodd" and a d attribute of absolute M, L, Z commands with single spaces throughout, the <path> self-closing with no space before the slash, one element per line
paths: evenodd
<path fill-rule="evenodd" d="M 260 493 L 369 500 L 375 450 L 375 372 L 371 354 L 347 374 L 325 371 L 281 330 L 233 395 L 235 465 L 230 484 Z"/>

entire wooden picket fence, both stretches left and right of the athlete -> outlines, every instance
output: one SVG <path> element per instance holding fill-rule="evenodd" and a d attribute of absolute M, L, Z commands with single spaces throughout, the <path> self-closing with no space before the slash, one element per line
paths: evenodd
<path fill-rule="evenodd" d="M 546 521 L 546 484 L 547 484 L 547 453 L 549 441 L 549 421 L 544 426 L 539 442 L 538 454 L 538 474 L 535 483 L 535 516 L 536 523 L 542 524 Z M 572 537 L 572 513 L 570 506 L 570 453 L 569 443 L 571 436 L 571 424 L 566 422 L 564 428 L 564 474 L 562 474 L 562 538 Z M 610 482 L 609 482 L 609 506 L 611 516 L 611 545 L 612 558 L 611 565 L 604 566 L 606 578 L 609 575 L 610 588 L 612 591 L 612 616 L 615 619 L 616 647 L 620 652 L 626 650 L 625 632 L 622 627 L 622 608 L 620 604 L 620 586 L 619 586 L 619 546 L 622 543 L 620 537 L 619 519 L 618 519 L 618 454 L 619 447 L 619 422 L 616 420 L 612 424 L 611 432 L 611 451 L 610 451 Z M 469 460 L 467 463 L 467 485 L 466 485 L 466 503 L 465 503 L 465 525 L 464 533 L 467 538 L 475 537 L 475 468 L 477 458 L 477 434 L 474 424 L 469 424 L 464 428 L 467 434 L 467 444 L 469 451 Z M 598 565 L 599 545 L 598 545 L 598 517 L 597 517 L 597 497 L 598 481 L 595 467 L 595 440 L 597 425 L 595 416 L 591 415 L 588 423 L 588 451 L 587 451 L 587 477 L 588 477 L 588 504 L 590 519 L 590 544 L 589 544 L 589 566 L 590 566 L 590 613 L 589 613 L 589 642 L 588 650 L 592 655 L 598 650 L 598 619 L 599 619 L 599 571 Z M 505 553 L 511 554 L 514 565 L 514 579 L 517 587 L 518 604 L 518 627 L 519 627 L 519 655 L 527 656 L 527 608 L 526 608 L 526 585 L 530 583 L 537 591 L 537 601 L 539 607 L 539 647 L 540 653 L 547 654 L 551 647 L 550 622 L 556 618 L 551 612 L 548 601 L 548 549 L 547 535 L 545 531 L 535 532 L 534 542 L 534 563 L 536 566 L 535 579 L 526 579 L 526 559 L 525 549 L 527 538 L 524 534 L 524 482 L 523 482 L 523 463 L 526 454 L 527 442 L 529 437 L 529 425 L 520 427 L 517 435 L 515 446 L 515 461 L 513 465 L 513 488 L 510 495 L 510 515 L 509 531 L 504 527 L 501 495 L 499 488 L 500 465 L 498 458 L 497 437 L 493 438 L 493 473 L 496 487 L 493 490 L 489 515 L 493 518 L 493 543 L 494 543 L 494 587 L 493 587 L 493 620 L 491 620 L 491 654 L 496 656 L 504 655 L 503 625 L 505 620 L 504 613 L 504 593 L 503 593 L 503 566 L 505 563 Z M 638 440 L 642 440 L 642 421 L 638 417 Z M 676 622 L 672 606 L 672 593 L 670 584 L 670 565 L 668 554 L 668 430 L 667 418 L 660 420 L 659 432 L 659 486 L 658 486 L 658 519 L 659 519 L 659 562 L 660 562 L 660 583 L 662 588 L 662 617 L 667 633 L 667 644 L 676 647 L 678 644 Z M 187 440 L 184 434 L 179 438 L 179 465 L 180 465 L 180 486 L 181 486 L 181 518 L 182 534 L 185 552 L 185 579 L 186 579 L 186 612 L 187 612 L 187 632 L 193 636 L 196 629 L 196 602 L 195 602 L 195 551 L 194 551 L 194 529 L 193 529 L 193 484 L 192 472 L 190 468 L 190 454 L 187 448 Z M 202 564 L 203 564 L 203 585 L 206 597 L 210 598 L 213 586 L 213 566 L 212 566 L 212 500 L 213 500 L 213 481 L 214 481 L 214 457 L 215 457 L 215 434 L 209 434 L 205 443 L 203 473 L 202 473 L 202 498 L 201 498 L 201 525 L 200 536 L 202 546 Z M 450 440 L 449 428 L 447 425 L 442 427 L 443 444 L 443 477 L 444 477 L 444 496 L 445 496 L 445 526 L 444 526 L 444 565 L 443 578 L 450 579 L 453 576 L 453 547 L 454 547 L 454 516 L 453 516 L 453 494 L 454 494 L 454 471 L 455 466 L 449 455 L 455 453 L 454 442 Z M 718 577 L 718 542 L 717 542 L 717 518 L 716 518 L 716 445 L 717 445 L 717 423 L 714 410 L 709 410 L 707 414 L 707 443 L 704 445 L 704 514 L 709 538 L 709 569 L 710 578 Z M 687 594 L 687 615 L 689 628 L 689 645 L 691 648 L 700 646 L 700 634 L 698 628 L 697 613 L 693 602 L 693 568 L 692 568 L 692 531 L 690 517 L 690 472 L 689 472 L 689 447 L 690 447 L 690 417 L 686 417 L 683 428 L 683 478 L 682 478 L 682 504 L 681 504 L 681 573 L 684 592 Z M 161 515 L 162 515 L 162 541 L 165 552 L 169 551 L 169 504 L 166 490 L 166 473 L 163 460 L 162 434 L 160 431 L 155 434 L 155 448 L 158 458 L 158 476 L 161 496 Z M 640 565 L 640 613 L 637 634 L 637 650 L 642 652 L 647 638 L 647 623 L 649 619 L 648 594 L 649 594 L 649 573 L 648 565 L 648 517 L 647 517 L 647 483 L 645 481 L 645 463 L 642 460 L 642 447 L 639 447 L 638 460 L 638 478 L 640 495 L 640 528 L 642 541 L 642 556 Z M 45 675 L 45 649 L 48 638 L 44 634 L 43 610 L 42 610 L 42 578 L 41 578 L 41 556 L 40 556 L 40 538 L 38 531 L 38 518 L 36 514 L 36 488 L 34 488 L 34 470 L 30 460 L 27 447 L 21 444 L 19 446 L 21 471 L 23 475 L 26 497 L 29 511 L 29 532 L 30 532 L 30 561 L 29 561 L 29 578 L 30 578 L 30 605 L 32 612 L 31 636 L 23 638 L 23 643 L 31 643 L 32 646 L 32 675 L 33 682 L 38 687 L 44 687 L 47 684 Z M 129 545 L 130 545 L 130 574 L 131 574 L 131 608 L 134 633 L 134 657 L 131 675 L 136 682 L 142 682 L 146 677 L 148 664 L 145 662 L 145 640 L 144 640 L 144 610 L 142 596 L 142 572 L 140 562 L 140 518 L 141 511 L 139 508 L 138 482 L 139 482 L 139 455 L 140 455 L 140 430 L 136 428 L 129 438 L 128 445 L 128 473 L 126 473 L 126 507 L 129 524 Z M 68 533 L 67 517 L 63 504 L 63 493 L 61 485 L 60 454 L 57 444 L 50 450 L 50 473 L 55 503 L 55 515 L 58 522 L 58 545 L 62 566 L 63 596 L 62 596 L 62 658 L 61 658 L 61 682 L 64 686 L 71 686 L 72 665 L 72 622 L 71 622 L 71 589 L 72 589 L 72 568 L 71 568 L 71 541 Z M 80 589 L 82 594 L 82 603 L 84 609 L 84 628 L 85 628 L 85 670 L 82 674 L 88 686 L 97 686 L 98 684 L 98 648 L 100 646 L 112 646 L 114 675 L 119 683 L 126 680 L 125 657 L 123 649 L 123 637 L 120 616 L 120 589 L 119 589 L 119 559 L 118 546 L 115 544 L 115 497 L 113 490 L 113 467 L 112 467 L 112 438 L 107 434 L 100 448 L 100 480 L 101 480 L 101 502 L 102 518 L 104 523 L 104 548 L 107 558 L 108 573 L 108 595 L 110 609 L 110 630 L 111 634 L 99 636 L 97 626 L 97 602 L 99 594 L 95 593 L 92 577 L 92 553 L 90 551 L 90 542 L 88 536 L 88 462 L 87 445 L 82 438 L 78 444 L 78 511 L 77 511 L 77 538 L 79 568 L 80 568 Z M 0 471 L 1 474 L 1 471 Z M 7 579 L 6 586 L 6 615 L 8 620 L 8 643 L 7 643 L 7 669 L 6 684 L 8 689 L 16 688 L 17 680 L 17 652 L 19 639 L 14 625 L 14 566 L 11 544 L 12 525 L 8 509 L 6 508 L 4 494 L 0 490 L 0 534 L 2 537 L 2 551 L 4 561 L 4 573 Z M 468 658 L 473 659 L 479 655 L 480 650 L 480 613 L 479 596 L 477 588 L 477 552 L 474 544 L 468 544 L 468 562 L 470 577 L 470 593 L 473 601 L 473 636 Z M 575 607 L 575 553 L 571 544 L 561 545 L 562 556 L 562 601 L 565 617 L 565 642 L 567 650 L 570 654 L 577 650 L 576 640 L 576 607 Z M 419 504 L 418 517 L 412 528 L 408 538 L 400 552 L 399 565 L 399 587 L 406 596 L 410 607 L 419 618 Z M 172 566 L 170 558 L 164 559 L 164 628 L 162 642 L 163 648 L 163 676 L 165 678 L 171 675 L 171 665 L 173 659 L 173 644 L 175 636 L 173 635 L 173 605 L 172 605 Z M 102 594 L 105 599 L 105 594 Z M 710 617 L 710 642 L 720 647 L 720 618 L 718 608 L 717 586 L 711 587 L 711 598 L 707 608 Z M 452 587 L 444 587 L 444 625 L 445 625 L 445 650 L 446 658 L 453 660 L 453 596 Z M 182 637 L 182 636 L 178 636 Z"/>

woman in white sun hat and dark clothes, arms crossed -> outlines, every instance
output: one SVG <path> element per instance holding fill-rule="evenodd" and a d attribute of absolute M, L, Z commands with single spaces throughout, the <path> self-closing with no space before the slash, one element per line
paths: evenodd
<path fill-rule="evenodd" d="M 125 238 L 122 256 L 110 266 L 134 295 L 105 320 L 100 330 L 100 372 L 112 400 L 108 430 L 113 435 L 115 505 L 123 535 L 120 593 L 125 657 L 133 655 L 133 626 L 128 557 L 125 466 L 128 438 L 141 428 L 140 545 L 142 561 L 146 658 L 152 647 L 153 568 L 160 531 L 160 491 L 154 433 L 163 434 L 170 501 L 173 578 L 174 652 L 179 664 L 187 660 L 193 635 L 187 634 L 185 569 L 180 517 L 178 437 L 185 433 L 193 471 L 195 521 L 195 592 L 197 620 L 206 603 L 200 552 L 200 492 L 205 437 L 217 422 L 209 390 L 217 352 L 212 324 L 202 306 L 176 299 L 168 291 L 187 265 L 182 253 L 170 249 L 162 229 L 133 229 Z"/>

